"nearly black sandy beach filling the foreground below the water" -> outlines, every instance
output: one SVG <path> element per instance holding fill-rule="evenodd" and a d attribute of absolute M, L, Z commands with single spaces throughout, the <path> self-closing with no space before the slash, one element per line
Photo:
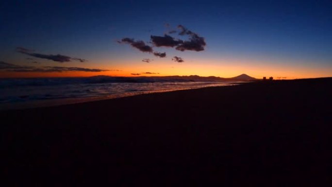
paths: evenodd
<path fill-rule="evenodd" d="M 332 180 L 331 96 L 325 78 L 2 111 L 1 178 L 38 187 L 322 187 Z"/>

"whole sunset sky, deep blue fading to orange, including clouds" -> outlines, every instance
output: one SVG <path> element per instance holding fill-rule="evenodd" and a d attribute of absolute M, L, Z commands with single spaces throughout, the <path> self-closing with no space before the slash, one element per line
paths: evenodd
<path fill-rule="evenodd" d="M 331 0 L 0 2 L 0 77 L 332 77 Z"/>

